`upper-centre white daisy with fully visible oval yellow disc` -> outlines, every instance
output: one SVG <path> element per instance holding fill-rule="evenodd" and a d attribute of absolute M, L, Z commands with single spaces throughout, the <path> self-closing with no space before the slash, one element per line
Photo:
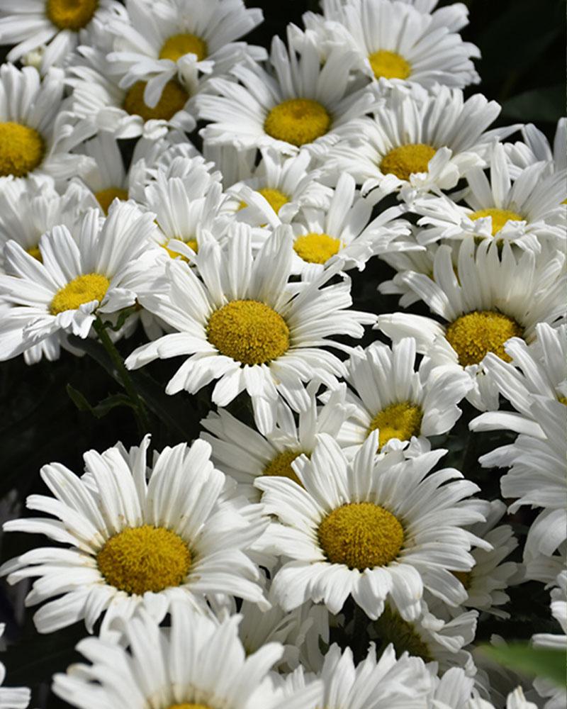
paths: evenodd
<path fill-rule="evenodd" d="M 355 60 L 352 52 L 336 48 L 321 66 L 314 42 L 305 43 L 298 55 L 274 37 L 271 73 L 242 62 L 230 69 L 230 80 L 209 79 L 218 96 L 196 96 L 199 118 L 212 121 L 201 130 L 203 139 L 238 148 L 271 145 L 285 155 L 301 147 L 325 152 L 337 130 L 378 103 L 373 91 L 351 86 Z"/>

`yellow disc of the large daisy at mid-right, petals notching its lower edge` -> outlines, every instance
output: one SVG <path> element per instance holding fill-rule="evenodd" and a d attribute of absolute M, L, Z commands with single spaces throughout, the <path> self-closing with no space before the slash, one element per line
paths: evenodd
<path fill-rule="evenodd" d="M 481 362 L 488 352 L 510 362 L 504 343 L 510 337 L 522 337 L 523 333 L 516 320 L 503 313 L 473 311 L 454 320 L 447 328 L 445 337 L 459 355 L 459 364 L 467 367 Z"/>

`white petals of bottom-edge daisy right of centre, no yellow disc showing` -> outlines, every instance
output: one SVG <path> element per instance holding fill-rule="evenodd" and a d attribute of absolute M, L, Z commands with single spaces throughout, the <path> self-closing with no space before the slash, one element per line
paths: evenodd
<path fill-rule="evenodd" d="M 351 648 L 342 651 L 332 644 L 320 672 L 308 674 L 299 667 L 284 680 L 284 691 L 291 694 L 315 681 L 322 682 L 317 706 L 328 709 L 425 709 L 432 685 L 420 659 L 407 654 L 396 659 L 391 646 L 376 658 L 374 643 L 359 664 Z"/>

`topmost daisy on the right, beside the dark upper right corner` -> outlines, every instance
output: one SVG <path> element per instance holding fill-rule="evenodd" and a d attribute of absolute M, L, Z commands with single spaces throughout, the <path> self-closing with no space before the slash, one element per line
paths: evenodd
<path fill-rule="evenodd" d="M 349 0 L 327 18 L 330 41 L 356 52 L 358 68 L 384 86 L 463 89 L 480 82 L 471 62 L 478 47 L 406 2 Z"/>

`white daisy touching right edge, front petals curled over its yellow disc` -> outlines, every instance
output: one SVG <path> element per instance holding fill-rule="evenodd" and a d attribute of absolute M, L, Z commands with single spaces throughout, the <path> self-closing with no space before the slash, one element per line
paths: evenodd
<path fill-rule="evenodd" d="M 418 196 L 411 203 L 420 215 L 417 232 L 420 244 L 441 239 L 462 240 L 473 234 L 478 239 L 510 241 L 522 249 L 541 251 L 541 242 L 565 250 L 565 194 L 567 169 L 546 177 L 546 163 L 538 162 L 510 179 L 502 143 L 495 143 L 490 155 L 490 180 L 481 167 L 466 174 L 467 206 L 447 196 Z"/>

